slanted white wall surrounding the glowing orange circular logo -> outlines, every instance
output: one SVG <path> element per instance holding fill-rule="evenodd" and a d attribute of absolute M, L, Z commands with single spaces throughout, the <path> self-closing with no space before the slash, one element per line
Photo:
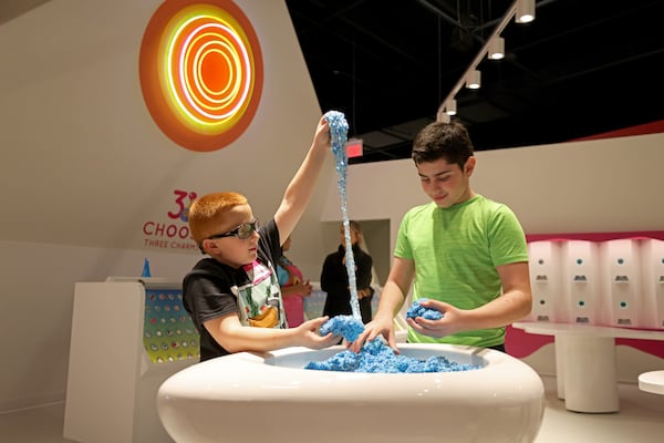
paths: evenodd
<path fill-rule="evenodd" d="M 186 225 L 167 216 L 175 189 L 238 190 L 259 218 L 276 210 L 321 110 L 284 2 L 235 2 L 261 45 L 262 97 L 246 133 L 212 153 L 174 144 L 144 104 L 138 54 L 160 0 L 56 0 L 0 25 L 0 411 L 64 399 L 75 281 L 139 276 L 144 257 L 154 277 L 180 279 L 201 258 L 144 234 L 146 222 Z M 330 155 L 322 182 L 333 174 Z M 310 272 L 323 189 L 292 255 Z"/>

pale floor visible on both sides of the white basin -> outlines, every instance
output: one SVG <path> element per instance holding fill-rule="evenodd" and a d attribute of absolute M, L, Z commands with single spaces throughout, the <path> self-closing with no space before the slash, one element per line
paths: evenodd
<path fill-rule="evenodd" d="M 613 414 L 569 412 L 556 394 L 556 379 L 543 377 L 547 409 L 535 443 L 655 443 L 664 435 L 664 395 L 621 383 L 621 411 Z M 62 437 L 64 403 L 0 414 L 0 435 L 11 443 L 72 443 Z M 153 442 L 141 442 L 153 443 Z"/>

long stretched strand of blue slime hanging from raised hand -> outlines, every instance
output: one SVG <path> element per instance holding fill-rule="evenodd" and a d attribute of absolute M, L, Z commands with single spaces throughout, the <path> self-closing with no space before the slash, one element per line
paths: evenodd
<path fill-rule="evenodd" d="M 339 196 L 341 197 L 341 214 L 343 216 L 343 230 L 345 236 L 345 266 L 349 275 L 349 287 L 351 289 L 351 310 L 353 317 L 362 321 L 360 315 L 360 303 L 357 301 L 357 282 L 355 281 L 355 258 L 353 256 L 353 246 L 351 243 L 351 227 L 349 222 L 347 199 L 346 199 L 346 175 L 349 168 L 349 157 L 345 151 L 345 144 L 349 134 L 349 124 L 339 111 L 329 111 L 325 113 L 325 120 L 330 124 L 330 136 L 332 137 L 332 152 L 336 162 L 336 183 L 339 185 Z"/>

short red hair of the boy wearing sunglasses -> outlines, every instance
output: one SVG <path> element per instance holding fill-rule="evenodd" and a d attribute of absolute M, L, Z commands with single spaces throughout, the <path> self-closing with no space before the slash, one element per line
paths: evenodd
<path fill-rule="evenodd" d="M 248 205 L 247 197 L 234 192 L 214 193 L 195 199 L 189 206 L 189 231 L 196 245 L 203 250 L 203 240 L 221 234 L 220 226 L 229 209 Z"/>

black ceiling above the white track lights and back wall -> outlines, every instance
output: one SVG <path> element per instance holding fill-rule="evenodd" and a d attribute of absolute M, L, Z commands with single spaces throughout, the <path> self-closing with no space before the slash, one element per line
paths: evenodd
<path fill-rule="evenodd" d="M 407 158 L 513 0 L 286 0 L 323 111 L 364 141 L 351 163 Z M 560 143 L 664 119 L 664 1 L 538 0 L 506 58 L 456 94 L 477 151 Z"/>

